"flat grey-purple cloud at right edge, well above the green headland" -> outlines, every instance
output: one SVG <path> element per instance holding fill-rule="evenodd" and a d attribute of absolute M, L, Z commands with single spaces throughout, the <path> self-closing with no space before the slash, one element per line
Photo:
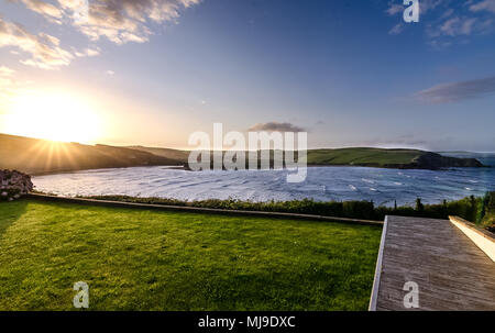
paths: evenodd
<path fill-rule="evenodd" d="M 449 103 L 495 93 L 495 76 L 484 79 L 438 85 L 415 96 L 425 102 Z"/>

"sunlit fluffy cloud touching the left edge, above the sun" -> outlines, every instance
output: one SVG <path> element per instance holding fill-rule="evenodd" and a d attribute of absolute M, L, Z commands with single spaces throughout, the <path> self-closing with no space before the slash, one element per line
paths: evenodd
<path fill-rule="evenodd" d="M 57 37 L 45 33 L 31 34 L 21 24 L 0 18 L 0 47 L 16 47 L 29 54 L 30 58 L 21 60 L 24 65 L 43 69 L 56 69 L 69 65 L 74 56 L 62 48 L 59 43 Z"/>

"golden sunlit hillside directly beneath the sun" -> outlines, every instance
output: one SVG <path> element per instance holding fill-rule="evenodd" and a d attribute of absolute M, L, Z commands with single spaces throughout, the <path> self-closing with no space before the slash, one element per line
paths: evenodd
<path fill-rule="evenodd" d="M 81 169 L 182 165 L 151 153 L 106 145 L 54 143 L 0 134 L 0 169 L 48 174 Z"/>

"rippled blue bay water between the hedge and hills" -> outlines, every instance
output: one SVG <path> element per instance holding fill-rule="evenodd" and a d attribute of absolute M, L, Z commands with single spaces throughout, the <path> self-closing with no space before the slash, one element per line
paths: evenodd
<path fill-rule="evenodd" d="M 35 188 L 63 196 L 127 195 L 180 200 L 373 200 L 414 204 L 455 200 L 495 190 L 495 168 L 398 170 L 311 167 L 306 181 L 288 184 L 286 170 L 185 171 L 167 167 L 98 169 L 33 177 Z"/>

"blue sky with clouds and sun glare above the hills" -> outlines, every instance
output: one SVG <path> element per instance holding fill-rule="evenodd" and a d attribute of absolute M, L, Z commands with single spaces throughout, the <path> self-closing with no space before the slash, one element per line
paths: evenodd
<path fill-rule="evenodd" d="M 0 0 L 0 132 L 495 152 L 495 0 L 418 1 Z"/>

